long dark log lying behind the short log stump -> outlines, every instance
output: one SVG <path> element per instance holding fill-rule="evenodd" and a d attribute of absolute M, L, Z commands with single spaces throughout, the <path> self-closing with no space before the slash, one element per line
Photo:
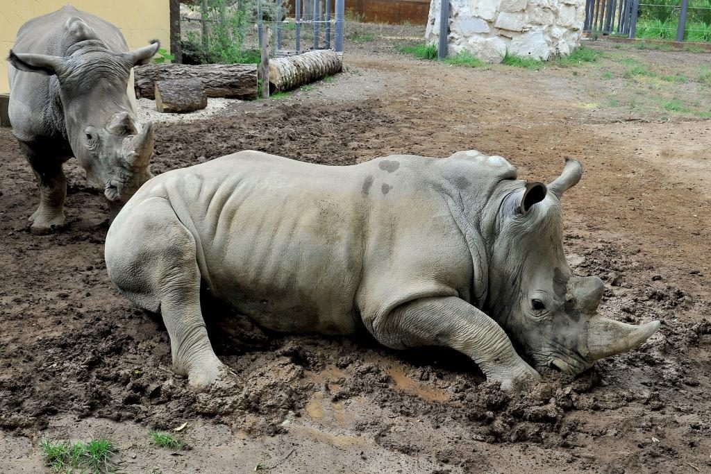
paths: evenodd
<path fill-rule="evenodd" d="M 162 80 L 202 80 L 208 97 L 252 100 L 257 98 L 257 65 L 255 64 L 148 64 L 137 66 L 137 97 L 155 98 L 154 83 Z"/>

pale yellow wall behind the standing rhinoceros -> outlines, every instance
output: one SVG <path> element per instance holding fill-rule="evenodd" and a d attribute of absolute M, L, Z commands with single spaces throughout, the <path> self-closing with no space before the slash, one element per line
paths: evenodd
<path fill-rule="evenodd" d="M 9 92 L 4 58 L 20 26 L 68 3 L 119 27 L 131 49 L 154 38 L 161 41 L 161 47 L 170 47 L 169 0 L 0 0 L 0 94 Z"/>

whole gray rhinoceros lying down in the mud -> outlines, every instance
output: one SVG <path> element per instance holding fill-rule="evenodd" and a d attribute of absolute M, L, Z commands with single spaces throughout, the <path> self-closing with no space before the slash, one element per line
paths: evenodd
<path fill-rule="evenodd" d="M 443 345 L 506 388 L 537 370 L 574 375 L 659 324 L 597 316 L 602 281 L 572 275 L 559 198 L 581 173 L 568 161 L 547 189 L 476 151 L 355 166 L 242 151 L 146 183 L 109 228 L 107 269 L 162 313 L 175 370 L 198 389 L 228 376 L 201 282 L 272 330 L 364 326 L 390 348 Z"/>

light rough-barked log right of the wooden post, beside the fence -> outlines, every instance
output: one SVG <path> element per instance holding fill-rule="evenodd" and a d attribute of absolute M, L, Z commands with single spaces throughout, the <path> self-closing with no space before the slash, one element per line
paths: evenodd
<path fill-rule="evenodd" d="M 333 50 L 307 51 L 269 60 L 269 93 L 296 87 L 341 72 L 343 56 Z"/>

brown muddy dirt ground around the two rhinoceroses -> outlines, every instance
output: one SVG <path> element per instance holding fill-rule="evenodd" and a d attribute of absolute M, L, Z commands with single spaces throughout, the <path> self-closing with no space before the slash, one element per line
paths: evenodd
<path fill-rule="evenodd" d="M 598 42 L 605 55 L 575 68 L 454 68 L 397 53 L 419 33 L 380 28 L 379 41 L 348 43 L 331 82 L 159 124 L 154 172 L 240 149 L 331 165 L 478 149 L 550 182 L 574 156 L 585 172 L 563 203 L 571 266 L 606 281 L 605 316 L 661 330 L 575 380 L 507 394 L 451 351 L 264 333 L 205 300 L 242 387 L 196 394 L 171 372 L 159 318 L 107 278 L 102 195 L 70 161 L 69 229 L 31 235 L 36 185 L 0 129 L 3 472 L 42 472 L 42 438 L 91 436 L 118 443 L 122 472 L 711 472 L 711 122 L 694 114 L 709 103 L 698 68 L 711 56 Z M 688 82 L 625 77 L 630 58 Z M 699 107 L 663 107 L 672 86 Z M 187 451 L 149 443 L 149 429 L 185 422 Z"/>

